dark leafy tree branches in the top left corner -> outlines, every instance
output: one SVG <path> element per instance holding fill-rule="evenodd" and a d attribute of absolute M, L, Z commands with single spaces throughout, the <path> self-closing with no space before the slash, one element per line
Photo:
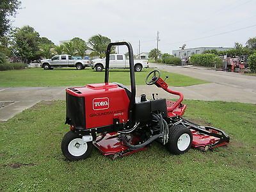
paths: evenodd
<path fill-rule="evenodd" d="M 0 1 L 0 37 L 6 35 L 10 29 L 10 17 L 15 16 L 20 7 L 19 0 Z"/>

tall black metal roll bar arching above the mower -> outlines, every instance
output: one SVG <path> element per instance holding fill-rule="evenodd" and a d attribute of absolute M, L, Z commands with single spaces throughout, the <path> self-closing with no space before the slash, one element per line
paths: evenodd
<path fill-rule="evenodd" d="M 129 104 L 129 119 L 132 120 L 132 109 L 135 104 L 136 86 L 135 86 L 135 75 L 134 75 L 134 61 L 133 61 L 133 50 L 132 45 L 129 42 L 115 42 L 108 44 L 106 51 L 106 66 L 105 66 L 105 83 L 108 83 L 109 79 L 109 54 L 112 46 L 126 45 L 129 51 L 129 65 L 130 65 L 130 81 L 131 81 L 131 99 Z"/>

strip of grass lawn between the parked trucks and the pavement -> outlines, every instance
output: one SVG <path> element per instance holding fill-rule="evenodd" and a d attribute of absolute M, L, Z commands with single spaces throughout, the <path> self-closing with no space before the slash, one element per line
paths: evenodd
<path fill-rule="evenodd" d="M 145 77 L 153 70 L 143 69 L 136 72 L 136 84 L 145 84 Z M 167 83 L 170 86 L 189 86 L 193 84 L 207 83 L 201 79 L 195 79 L 180 74 L 162 72 L 161 77 L 169 76 Z M 0 87 L 9 86 L 83 86 L 88 83 L 104 82 L 104 72 L 95 72 L 92 69 L 54 69 L 27 68 L 24 70 L 0 71 Z M 109 73 L 109 82 L 130 84 L 129 70 L 112 70 Z"/>

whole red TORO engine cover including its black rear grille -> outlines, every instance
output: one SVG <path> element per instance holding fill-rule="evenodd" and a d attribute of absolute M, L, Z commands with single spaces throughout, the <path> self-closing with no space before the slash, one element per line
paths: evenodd
<path fill-rule="evenodd" d="M 67 88 L 66 93 L 67 98 L 72 98 L 66 100 L 66 122 L 78 129 L 81 129 L 81 126 L 84 126 L 83 129 L 91 129 L 113 125 L 114 118 L 120 123 L 128 120 L 130 101 L 125 90 L 117 84 L 88 84 L 82 87 Z"/>

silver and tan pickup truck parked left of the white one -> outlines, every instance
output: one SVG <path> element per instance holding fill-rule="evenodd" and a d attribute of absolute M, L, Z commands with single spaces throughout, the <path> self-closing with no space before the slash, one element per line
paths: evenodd
<path fill-rule="evenodd" d="M 90 67 L 90 61 L 74 60 L 74 58 L 68 54 L 61 54 L 56 55 L 51 59 L 41 60 L 41 67 L 45 70 L 58 67 L 76 67 L 77 70 L 81 70 L 85 67 Z"/>

